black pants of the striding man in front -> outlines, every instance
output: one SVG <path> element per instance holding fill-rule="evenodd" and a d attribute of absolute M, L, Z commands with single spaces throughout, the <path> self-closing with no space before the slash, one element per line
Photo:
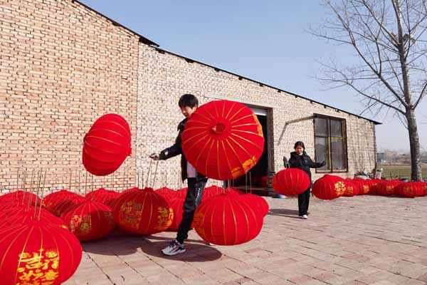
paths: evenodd
<path fill-rule="evenodd" d="M 196 178 L 187 178 L 189 189 L 184 201 L 184 212 L 182 213 L 182 221 L 178 227 L 178 233 L 176 234 L 176 240 L 179 243 L 183 243 L 184 240 L 189 237 L 189 230 L 194 219 L 194 212 L 201 203 L 201 197 L 203 197 L 203 190 L 208 182 L 207 178 L 196 180 Z"/>

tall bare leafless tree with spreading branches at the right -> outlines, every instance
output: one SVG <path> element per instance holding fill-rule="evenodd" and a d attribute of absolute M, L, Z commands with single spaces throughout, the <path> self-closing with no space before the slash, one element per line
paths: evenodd
<path fill-rule="evenodd" d="M 377 115 L 384 109 L 398 116 L 408 129 L 411 178 L 421 180 L 415 110 L 427 92 L 426 0 L 323 0 L 322 4 L 327 18 L 310 33 L 349 46 L 356 63 L 322 62 L 318 77 L 330 88 L 354 90 L 366 106 L 364 112 Z"/>

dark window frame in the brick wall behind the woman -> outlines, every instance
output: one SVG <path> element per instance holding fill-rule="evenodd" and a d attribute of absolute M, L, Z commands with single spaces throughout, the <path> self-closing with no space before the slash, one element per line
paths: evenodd
<path fill-rule="evenodd" d="M 325 135 L 316 135 L 316 118 L 326 119 L 327 120 L 327 136 Z M 331 135 L 331 120 L 339 120 L 341 121 L 342 125 L 342 136 L 332 136 Z M 344 118 L 338 118 L 338 117 L 332 117 L 330 115 L 322 115 L 322 114 L 314 114 L 313 118 L 313 133 L 314 133 L 314 142 L 315 142 L 315 157 L 317 158 L 317 152 L 316 152 L 316 137 L 318 138 L 326 138 L 327 139 L 327 159 L 329 160 L 330 169 L 329 170 L 320 170 L 319 168 L 315 169 L 316 173 L 347 173 L 349 172 L 349 152 L 348 152 L 348 146 L 347 146 L 347 121 Z M 331 151 L 331 139 L 332 138 L 340 138 L 342 139 L 342 160 L 345 160 L 344 166 L 345 170 L 334 170 L 333 164 L 332 164 L 332 151 Z"/>

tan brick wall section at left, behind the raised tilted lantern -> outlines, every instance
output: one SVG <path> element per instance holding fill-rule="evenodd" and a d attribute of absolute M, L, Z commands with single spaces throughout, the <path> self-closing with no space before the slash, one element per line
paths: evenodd
<path fill-rule="evenodd" d="M 24 169 L 28 182 L 42 168 L 49 191 L 68 187 L 70 170 L 71 188 L 83 189 L 83 136 L 105 113 L 130 123 L 132 156 L 107 185 L 87 184 L 126 187 L 125 170 L 135 179 L 139 36 L 71 0 L 1 1 L 0 19 L 0 190 L 16 189 L 18 170 L 22 184 Z"/>

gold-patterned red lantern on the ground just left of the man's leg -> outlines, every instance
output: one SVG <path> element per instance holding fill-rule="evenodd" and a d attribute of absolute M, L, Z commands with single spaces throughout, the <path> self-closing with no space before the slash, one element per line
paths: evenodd
<path fill-rule="evenodd" d="M 113 215 L 116 224 L 134 234 L 156 234 L 171 224 L 174 212 L 152 188 L 132 190 L 117 198 Z"/>

